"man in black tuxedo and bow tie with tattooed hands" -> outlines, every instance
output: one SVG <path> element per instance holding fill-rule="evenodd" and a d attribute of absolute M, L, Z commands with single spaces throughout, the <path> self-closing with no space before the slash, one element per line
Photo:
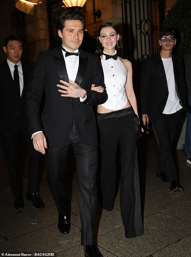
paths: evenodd
<path fill-rule="evenodd" d="M 107 100 L 97 56 L 79 49 L 85 20 L 78 12 L 67 11 L 58 20 L 62 45 L 39 54 L 29 83 L 27 111 L 34 148 L 45 154 L 47 180 L 58 208 L 58 229 L 70 232 L 65 172 L 71 146 L 77 166 L 81 219 L 81 245 L 85 256 L 102 256 L 95 245 L 97 208 L 97 128 L 92 105 Z M 74 82 L 75 81 L 75 82 Z M 39 103 L 45 90 L 46 101 L 39 119 Z"/>

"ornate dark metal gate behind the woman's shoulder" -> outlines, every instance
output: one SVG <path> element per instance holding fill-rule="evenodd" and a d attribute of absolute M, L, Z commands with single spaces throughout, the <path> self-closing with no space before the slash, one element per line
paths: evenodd
<path fill-rule="evenodd" d="M 132 62 L 134 86 L 139 86 L 142 61 L 159 51 L 164 0 L 122 0 L 124 54 Z"/>

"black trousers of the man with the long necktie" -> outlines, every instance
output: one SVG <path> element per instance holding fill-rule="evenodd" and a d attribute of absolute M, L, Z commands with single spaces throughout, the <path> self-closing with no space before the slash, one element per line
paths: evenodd
<path fill-rule="evenodd" d="M 29 155 L 27 191 L 29 193 L 37 192 L 40 153 L 34 149 L 33 140 L 30 138 L 27 122 L 18 121 L 13 128 L 1 130 L 1 134 L 7 153 L 8 171 L 12 193 L 14 195 L 22 194 L 19 167 L 20 136 L 23 137 L 26 143 Z"/>

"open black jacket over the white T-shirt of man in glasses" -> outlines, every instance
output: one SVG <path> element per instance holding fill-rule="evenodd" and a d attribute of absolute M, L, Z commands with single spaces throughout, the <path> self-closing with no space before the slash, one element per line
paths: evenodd
<path fill-rule="evenodd" d="M 183 59 L 172 54 L 174 80 L 180 105 L 190 111 L 187 104 L 187 90 Z M 157 121 L 168 99 L 168 85 L 160 53 L 146 58 L 142 64 L 140 100 L 142 114 L 148 114 L 151 121 Z"/>

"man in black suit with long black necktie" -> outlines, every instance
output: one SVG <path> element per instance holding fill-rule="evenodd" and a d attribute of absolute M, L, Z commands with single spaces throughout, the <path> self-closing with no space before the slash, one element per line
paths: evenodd
<path fill-rule="evenodd" d="M 17 34 L 7 36 L 3 46 L 7 60 L 0 64 L 0 131 L 5 142 L 14 208 L 24 207 L 20 183 L 19 145 L 23 137 L 29 154 L 27 200 L 37 208 L 44 203 L 37 193 L 40 154 L 33 149 L 26 115 L 26 92 L 33 67 L 20 61 L 23 40 Z"/>

